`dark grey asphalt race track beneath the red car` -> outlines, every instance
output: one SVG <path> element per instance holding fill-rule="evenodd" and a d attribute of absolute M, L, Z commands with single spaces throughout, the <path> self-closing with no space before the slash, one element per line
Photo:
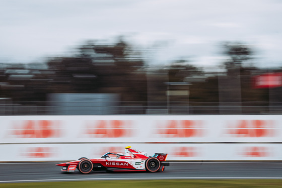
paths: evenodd
<path fill-rule="evenodd" d="M 282 163 L 171 162 L 164 172 L 93 172 L 60 171 L 56 163 L 0 163 L 0 182 L 71 181 L 104 179 L 282 179 Z"/>

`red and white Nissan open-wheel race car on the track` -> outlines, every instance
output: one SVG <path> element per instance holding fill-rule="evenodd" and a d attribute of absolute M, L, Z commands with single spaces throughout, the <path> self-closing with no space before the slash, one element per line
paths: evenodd
<path fill-rule="evenodd" d="M 75 171 L 76 168 L 81 173 L 92 171 L 164 171 L 164 166 L 169 166 L 165 162 L 167 153 L 155 153 L 152 157 L 147 156 L 146 152 L 125 148 L 125 155 L 122 153 L 104 154 L 101 158 L 88 159 L 81 157 L 79 160 L 56 164 L 62 166 L 61 171 Z"/>

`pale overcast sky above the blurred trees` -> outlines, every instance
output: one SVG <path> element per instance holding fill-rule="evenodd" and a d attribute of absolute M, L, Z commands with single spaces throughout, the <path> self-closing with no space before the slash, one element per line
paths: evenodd
<path fill-rule="evenodd" d="M 255 64 L 282 66 L 282 0 L 1 0 L 0 15 L 0 62 L 37 62 L 127 35 L 151 64 L 217 65 L 220 44 L 240 41 L 255 49 Z"/>

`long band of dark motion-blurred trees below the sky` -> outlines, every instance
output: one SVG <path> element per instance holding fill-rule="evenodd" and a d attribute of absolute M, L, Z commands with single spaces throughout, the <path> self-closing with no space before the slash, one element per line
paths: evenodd
<path fill-rule="evenodd" d="M 256 67 L 253 49 L 243 43 L 225 43 L 222 47 L 228 58 L 219 62 L 224 70 L 219 72 L 206 71 L 183 59 L 150 66 L 144 58 L 148 52 L 122 38 L 112 43 L 87 41 L 73 55 L 49 57 L 45 64 L 2 63 L 0 98 L 21 105 L 45 106 L 48 93 L 118 93 L 121 107 L 143 107 L 144 114 L 146 109 L 173 106 L 186 106 L 190 114 L 217 114 L 219 108 L 199 109 L 224 105 L 240 107 L 238 113 L 264 113 L 265 109 L 255 109 L 268 108 L 272 100 L 269 93 L 273 91 L 253 88 L 253 76 L 282 69 Z M 173 86 L 174 82 L 186 84 Z M 167 96 L 172 87 L 188 90 L 189 96 Z M 272 102 L 279 100 L 273 98 Z M 244 106 L 253 111 L 241 108 Z"/>

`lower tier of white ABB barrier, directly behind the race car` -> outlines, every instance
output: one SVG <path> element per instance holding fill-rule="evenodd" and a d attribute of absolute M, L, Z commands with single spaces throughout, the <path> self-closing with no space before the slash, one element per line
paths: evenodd
<path fill-rule="evenodd" d="M 167 160 L 281 160 L 282 144 L 128 144 L 134 149 L 168 153 Z M 0 145 L 1 161 L 70 161 L 98 158 L 106 152 L 124 153 L 126 144 Z"/>

